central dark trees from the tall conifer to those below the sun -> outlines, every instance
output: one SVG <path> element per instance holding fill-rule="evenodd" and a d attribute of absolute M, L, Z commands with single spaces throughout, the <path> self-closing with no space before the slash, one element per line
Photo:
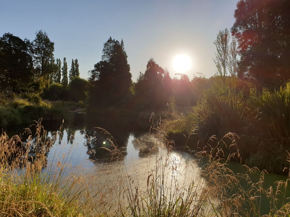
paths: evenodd
<path fill-rule="evenodd" d="M 185 74 L 171 78 L 167 69 L 151 58 L 144 73 L 132 82 L 130 65 L 124 50 L 124 42 L 112 39 L 104 43 L 102 58 L 89 71 L 92 84 L 89 91 L 89 105 L 93 109 L 123 106 L 132 111 L 163 109 L 173 98 L 176 105 L 194 105 L 201 93 L 205 78 L 195 77 L 192 81 Z M 198 90 L 200 88 L 200 90 Z"/>

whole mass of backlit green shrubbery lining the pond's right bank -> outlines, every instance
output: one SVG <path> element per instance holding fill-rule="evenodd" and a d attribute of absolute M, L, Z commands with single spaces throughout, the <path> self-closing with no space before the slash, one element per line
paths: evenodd
<path fill-rule="evenodd" d="M 238 148 L 250 166 L 283 172 L 290 145 L 290 84 L 257 98 L 252 84 L 232 86 L 227 79 L 216 77 L 191 112 L 165 121 L 169 138 L 194 133 L 189 146 L 195 150 L 197 143 L 202 148 L 213 135 L 220 140 L 232 132 L 238 135 Z"/>

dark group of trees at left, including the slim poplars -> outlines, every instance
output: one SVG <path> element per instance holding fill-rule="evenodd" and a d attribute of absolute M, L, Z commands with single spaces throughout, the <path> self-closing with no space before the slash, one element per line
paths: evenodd
<path fill-rule="evenodd" d="M 67 85 L 73 77 L 79 76 L 78 60 L 72 60 L 69 71 L 66 58 L 54 58 L 54 43 L 47 33 L 39 30 L 35 39 L 20 39 L 11 33 L 0 38 L 0 88 L 13 90 L 30 86 L 49 86 L 52 83 Z"/>

